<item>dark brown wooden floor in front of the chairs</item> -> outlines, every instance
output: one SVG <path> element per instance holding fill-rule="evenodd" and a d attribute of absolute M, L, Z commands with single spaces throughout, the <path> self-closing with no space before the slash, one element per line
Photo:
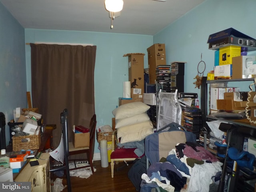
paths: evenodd
<path fill-rule="evenodd" d="M 100 161 L 93 162 L 96 172 L 89 178 L 71 177 L 72 192 L 136 192 L 136 189 L 127 176 L 129 168 L 132 166 L 124 166 L 123 162 L 115 165 L 115 169 L 122 167 L 120 170 L 114 170 L 114 178 L 111 178 L 110 163 L 107 168 L 101 167 Z M 66 185 L 66 179 L 63 178 L 62 184 Z M 63 192 L 67 192 L 64 188 Z"/>

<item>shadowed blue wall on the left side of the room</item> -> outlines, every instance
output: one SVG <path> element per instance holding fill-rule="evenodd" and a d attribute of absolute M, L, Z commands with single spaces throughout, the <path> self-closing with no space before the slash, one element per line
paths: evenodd
<path fill-rule="evenodd" d="M 27 108 L 24 28 L 0 3 L 0 112 L 6 123 L 16 107 Z M 6 144 L 10 140 L 6 125 Z"/>

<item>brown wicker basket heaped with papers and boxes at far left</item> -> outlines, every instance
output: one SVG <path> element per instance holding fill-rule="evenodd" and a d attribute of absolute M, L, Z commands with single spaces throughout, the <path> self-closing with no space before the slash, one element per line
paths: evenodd
<path fill-rule="evenodd" d="M 22 139 L 28 139 L 28 142 L 22 142 Z M 41 143 L 40 133 L 38 135 L 28 135 L 28 136 L 19 136 L 12 137 L 12 150 L 20 151 L 24 150 L 35 150 L 39 149 Z"/>

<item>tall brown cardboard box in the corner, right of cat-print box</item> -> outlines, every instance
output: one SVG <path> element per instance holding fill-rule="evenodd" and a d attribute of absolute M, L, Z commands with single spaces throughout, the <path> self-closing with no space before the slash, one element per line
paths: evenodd
<path fill-rule="evenodd" d="M 165 44 L 154 44 L 147 48 L 149 83 L 155 84 L 156 66 L 166 65 Z"/>

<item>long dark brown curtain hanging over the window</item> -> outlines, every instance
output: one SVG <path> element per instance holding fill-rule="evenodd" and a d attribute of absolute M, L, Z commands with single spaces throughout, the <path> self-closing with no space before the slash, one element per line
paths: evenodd
<path fill-rule="evenodd" d="M 96 46 L 30 44 L 33 107 L 44 124 L 56 124 L 53 145 L 60 142 L 60 113 L 68 109 L 68 134 L 73 125 L 89 127 L 94 108 Z"/>

